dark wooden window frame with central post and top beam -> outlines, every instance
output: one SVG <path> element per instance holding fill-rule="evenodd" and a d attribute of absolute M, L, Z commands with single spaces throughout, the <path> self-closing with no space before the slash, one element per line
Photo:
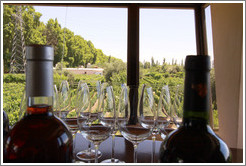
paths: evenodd
<path fill-rule="evenodd" d="M 193 9 L 196 31 L 196 50 L 198 56 L 208 54 L 205 8 L 206 3 L 4 3 L 4 5 L 32 5 L 32 6 L 65 6 L 65 7 L 107 7 L 127 8 L 127 85 L 129 86 L 130 105 L 132 106 L 130 119 L 137 121 L 137 103 L 139 87 L 139 12 L 140 8 L 157 9 Z M 210 116 L 210 118 L 212 118 Z M 212 120 L 210 120 L 212 122 Z M 213 126 L 213 124 L 210 124 Z"/>

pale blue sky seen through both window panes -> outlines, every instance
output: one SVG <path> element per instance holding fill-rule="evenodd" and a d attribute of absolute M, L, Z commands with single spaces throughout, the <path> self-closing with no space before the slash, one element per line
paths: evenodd
<path fill-rule="evenodd" d="M 106 55 L 127 60 L 127 9 L 35 6 L 47 23 L 57 18 L 85 40 L 91 40 Z M 140 61 L 162 63 L 196 54 L 193 10 L 140 9 Z"/>

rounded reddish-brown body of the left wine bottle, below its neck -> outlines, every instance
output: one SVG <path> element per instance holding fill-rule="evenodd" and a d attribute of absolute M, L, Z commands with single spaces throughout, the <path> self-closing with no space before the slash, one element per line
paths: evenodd
<path fill-rule="evenodd" d="M 71 162 L 73 137 L 54 115 L 28 115 L 6 139 L 5 162 Z"/>

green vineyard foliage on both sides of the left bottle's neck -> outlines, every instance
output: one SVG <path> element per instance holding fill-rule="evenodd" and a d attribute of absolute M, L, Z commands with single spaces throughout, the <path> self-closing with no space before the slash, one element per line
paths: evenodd
<path fill-rule="evenodd" d="M 100 75 L 59 75 L 54 74 L 54 84 L 59 87 L 62 80 L 68 80 L 72 93 L 75 93 L 79 80 L 88 84 L 89 87 L 96 85 L 96 81 L 104 80 Z M 25 89 L 24 74 L 4 74 L 3 76 L 3 110 L 8 114 L 10 125 L 14 125 L 20 114 L 20 104 Z M 74 96 L 73 96 L 74 99 Z M 74 100 L 72 100 L 74 101 Z M 74 105 L 74 102 L 71 103 Z"/>

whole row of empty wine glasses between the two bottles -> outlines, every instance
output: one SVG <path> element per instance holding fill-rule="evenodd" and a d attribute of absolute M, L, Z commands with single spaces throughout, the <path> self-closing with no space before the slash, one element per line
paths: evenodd
<path fill-rule="evenodd" d="M 170 88 L 171 90 L 165 85 L 159 91 L 143 85 L 139 90 L 137 122 L 134 123 L 130 121 L 130 90 L 125 84 L 121 88 L 121 94 L 115 102 L 113 88 L 107 83 L 101 85 L 97 82 L 96 86 L 89 88 L 80 81 L 74 91 L 69 89 L 67 81 L 62 81 L 59 88 L 54 86 L 54 113 L 69 126 L 73 135 L 80 130 L 90 141 L 88 149 L 77 154 L 79 159 L 96 159 L 97 162 L 102 155 L 98 151 L 100 143 L 111 135 L 112 157 L 103 162 L 121 162 L 114 158 L 114 137 L 120 130 L 123 137 L 134 145 L 134 162 L 137 162 L 137 145 L 152 135 L 153 162 L 156 135 L 160 133 L 164 139 L 170 125 L 180 125 L 183 97 L 180 85 Z M 95 145 L 95 150 L 91 149 L 91 142 Z"/>

